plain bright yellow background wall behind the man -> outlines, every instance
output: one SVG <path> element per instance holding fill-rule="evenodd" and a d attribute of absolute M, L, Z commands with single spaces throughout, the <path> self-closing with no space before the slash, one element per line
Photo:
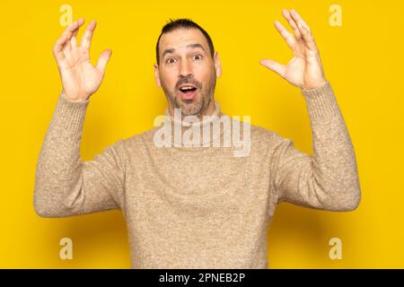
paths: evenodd
<path fill-rule="evenodd" d="M 97 20 L 92 62 L 112 49 L 101 89 L 83 130 L 83 160 L 153 127 L 166 100 L 154 82 L 155 41 L 170 19 L 190 18 L 212 37 L 223 65 L 215 99 L 229 115 L 293 139 L 312 151 L 300 91 L 262 65 L 286 63 L 291 51 L 273 22 L 295 8 L 312 28 L 322 62 L 356 148 L 362 202 L 350 213 L 281 204 L 268 231 L 271 268 L 403 268 L 403 25 L 400 1 L 2 1 L 1 209 L 2 268 L 129 268 L 127 229 L 118 211 L 63 219 L 33 209 L 36 162 L 61 83 L 52 55 L 62 4 L 73 17 Z M 342 27 L 329 6 L 342 7 Z M 82 29 L 83 30 L 83 29 Z M 83 31 L 79 32 L 79 37 Z M 73 260 L 59 240 L 73 239 Z M 342 239 L 342 259 L 329 259 L 329 239 Z"/>

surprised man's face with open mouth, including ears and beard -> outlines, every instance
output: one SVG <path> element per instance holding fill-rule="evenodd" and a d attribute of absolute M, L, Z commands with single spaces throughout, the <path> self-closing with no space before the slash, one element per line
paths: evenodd
<path fill-rule="evenodd" d="M 162 34 L 159 44 L 160 65 L 154 65 L 157 85 L 173 109 L 184 116 L 210 115 L 215 109 L 216 77 L 222 74 L 220 60 L 210 55 L 204 34 L 198 29 L 177 29 Z M 181 87 L 190 85 L 189 91 Z"/>

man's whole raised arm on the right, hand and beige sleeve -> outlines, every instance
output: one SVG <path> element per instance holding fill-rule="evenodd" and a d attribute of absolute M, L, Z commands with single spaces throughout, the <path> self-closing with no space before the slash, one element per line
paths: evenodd
<path fill-rule="evenodd" d="M 272 59 L 259 63 L 302 89 L 312 124 L 313 155 L 294 148 L 289 139 L 274 133 L 271 171 L 278 201 L 333 211 L 355 209 L 361 191 L 354 147 L 325 78 L 319 49 L 309 25 L 292 9 L 282 11 L 294 35 L 280 22 L 275 27 L 294 57 L 281 65 Z"/>

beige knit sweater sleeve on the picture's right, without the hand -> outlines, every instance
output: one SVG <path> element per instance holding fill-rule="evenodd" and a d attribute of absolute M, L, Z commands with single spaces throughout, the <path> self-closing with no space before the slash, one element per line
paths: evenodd
<path fill-rule="evenodd" d="M 312 125 L 313 154 L 272 134 L 273 187 L 278 202 L 329 211 L 351 211 L 361 199 L 356 156 L 329 82 L 302 90 Z"/>

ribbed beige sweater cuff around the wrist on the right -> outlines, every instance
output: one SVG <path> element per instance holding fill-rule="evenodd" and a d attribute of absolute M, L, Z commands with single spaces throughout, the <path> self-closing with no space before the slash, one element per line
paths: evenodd
<path fill-rule="evenodd" d="M 302 93 L 313 120 L 326 120 L 339 115 L 338 102 L 329 81 L 315 89 L 302 89 Z"/>

